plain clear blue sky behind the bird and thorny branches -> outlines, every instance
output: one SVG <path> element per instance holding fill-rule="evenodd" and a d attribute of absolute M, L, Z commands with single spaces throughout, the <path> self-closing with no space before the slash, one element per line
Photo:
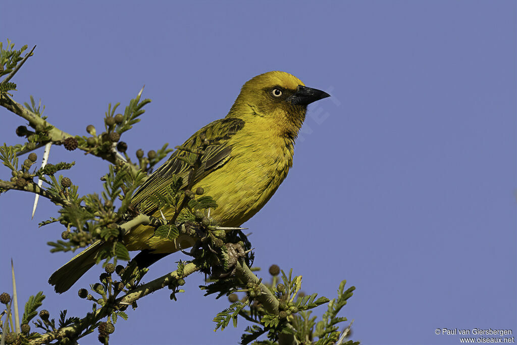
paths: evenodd
<path fill-rule="evenodd" d="M 122 140 L 134 154 L 175 146 L 222 118 L 240 86 L 284 70 L 332 98 L 310 106 L 294 166 L 246 223 L 255 263 L 303 276 L 302 290 L 334 297 L 356 286 L 342 316 L 365 344 L 456 344 L 436 328 L 513 329 L 516 276 L 516 10 L 513 1 L 13 2 L 0 39 L 37 45 L 12 81 L 14 98 L 41 98 L 49 121 L 85 135 L 108 103 L 145 84 L 153 100 Z M 20 142 L 24 122 L 0 109 L 0 142 Z M 42 155 L 42 152 L 38 152 Z M 53 147 L 50 162 L 99 192 L 107 163 Z M 9 179 L 7 169 L 0 178 Z M 60 227 L 37 228 L 57 207 L 0 197 L 0 272 L 17 269 L 22 301 L 43 290 L 53 317 L 90 303 L 47 284 L 71 253 L 49 253 Z M 151 267 L 172 271 L 181 254 Z M 159 291 L 119 321 L 113 343 L 237 343 L 247 325 L 214 333 L 227 306 L 203 297 L 203 276 L 178 302 Z M 8 279 L 0 290 L 10 291 Z M 321 314 L 323 308 L 317 313 Z M 513 328 L 512 328 L 513 327 Z M 34 326 L 33 326 L 34 328 Z M 83 343 L 98 343 L 90 335 Z"/>

